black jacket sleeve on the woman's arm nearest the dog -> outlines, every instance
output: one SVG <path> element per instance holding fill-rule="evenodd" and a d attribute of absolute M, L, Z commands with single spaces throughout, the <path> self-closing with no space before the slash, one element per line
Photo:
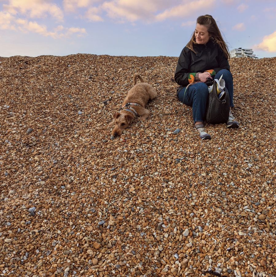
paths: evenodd
<path fill-rule="evenodd" d="M 178 58 L 174 79 L 180 86 L 189 84 L 189 67 L 191 63 L 191 52 L 183 48 Z"/>

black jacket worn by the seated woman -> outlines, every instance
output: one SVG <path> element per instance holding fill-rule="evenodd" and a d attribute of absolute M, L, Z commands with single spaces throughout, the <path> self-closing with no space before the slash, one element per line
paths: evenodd
<path fill-rule="evenodd" d="M 192 52 L 189 48 L 184 47 L 179 56 L 174 79 L 180 86 L 187 86 L 190 73 L 204 72 L 205 70 L 214 70 L 215 75 L 221 69 L 230 71 L 230 66 L 227 58 L 224 55 L 220 46 L 211 39 L 204 44 L 194 44 Z"/>

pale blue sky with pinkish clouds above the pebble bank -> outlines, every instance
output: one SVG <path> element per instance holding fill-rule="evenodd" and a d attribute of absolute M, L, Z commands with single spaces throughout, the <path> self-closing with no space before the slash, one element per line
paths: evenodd
<path fill-rule="evenodd" d="M 229 50 L 276 56 L 276 0 L 0 0 L 0 56 L 174 56 L 210 14 Z"/>

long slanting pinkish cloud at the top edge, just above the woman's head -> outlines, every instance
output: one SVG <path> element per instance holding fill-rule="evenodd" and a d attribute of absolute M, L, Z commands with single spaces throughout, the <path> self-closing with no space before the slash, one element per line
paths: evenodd
<path fill-rule="evenodd" d="M 215 0 L 195 0 L 180 5 L 174 6 L 173 8 L 167 9 L 161 14 L 156 16 L 157 20 L 165 20 L 168 18 L 179 18 L 191 15 L 200 10 L 208 9 L 210 6 L 215 4 Z"/>

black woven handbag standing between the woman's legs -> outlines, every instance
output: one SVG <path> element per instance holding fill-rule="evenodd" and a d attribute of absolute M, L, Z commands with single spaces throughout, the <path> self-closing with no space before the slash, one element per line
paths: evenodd
<path fill-rule="evenodd" d="M 211 124 L 226 123 L 229 118 L 230 98 L 227 88 L 225 94 L 219 99 L 216 93 L 216 82 L 213 81 L 213 89 L 209 93 L 206 121 Z"/>

